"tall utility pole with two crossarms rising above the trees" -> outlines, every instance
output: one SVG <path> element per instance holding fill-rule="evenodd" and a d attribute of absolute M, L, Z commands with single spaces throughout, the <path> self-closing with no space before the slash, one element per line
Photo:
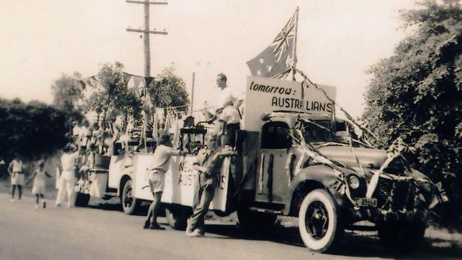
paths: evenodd
<path fill-rule="evenodd" d="M 168 4 L 167 2 L 151 2 L 149 0 L 145 1 L 131 1 L 127 0 L 129 4 L 143 4 L 144 5 L 144 30 L 141 29 L 131 29 L 127 28 L 127 31 L 134 33 L 143 33 L 144 37 L 144 77 L 151 77 L 151 50 L 149 48 L 149 34 L 163 34 L 167 35 L 167 32 L 164 31 L 150 31 L 149 30 L 149 5 L 150 4 Z"/>

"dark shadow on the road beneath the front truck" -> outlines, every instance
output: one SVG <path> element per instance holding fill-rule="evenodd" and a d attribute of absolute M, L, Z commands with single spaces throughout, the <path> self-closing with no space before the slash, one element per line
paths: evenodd
<path fill-rule="evenodd" d="M 294 247 L 305 247 L 299 235 L 298 227 L 278 226 L 271 230 L 247 231 L 237 227 L 237 225 L 208 224 L 206 232 L 224 236 L 220 237 L 220 239 L 264 240 L 289 244 Z M 443 239 L 426 239 L 421 248 L 410 254 L 394 254 L 382 246 L 377 233 L 362 233 L 346 231 L 342 244 L 340 244 L 337 251 L 331 254 L 353 257 L 378 256 L 387 259 L 422 259 L 423 257 L 425 259 L 441 259 L 441 256 L 462 256 L 462 249 L 456 242 Z M 436 243 L 444 243 L 447 246 L 438 247 Z"/>

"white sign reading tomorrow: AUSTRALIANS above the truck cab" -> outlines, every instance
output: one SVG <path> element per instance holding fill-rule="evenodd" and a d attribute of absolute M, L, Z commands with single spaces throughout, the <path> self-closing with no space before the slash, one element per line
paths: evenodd
<path fill-rule="evenodd" d="M 318 85 L 335 100 L 335 87 Z M 334 106 L 313 85 L 267 77 L 247 77 L 245 87 L 243 129 L 259 131 L 262 114 L 269 112 L 301 112 L 330 117 Z"/>

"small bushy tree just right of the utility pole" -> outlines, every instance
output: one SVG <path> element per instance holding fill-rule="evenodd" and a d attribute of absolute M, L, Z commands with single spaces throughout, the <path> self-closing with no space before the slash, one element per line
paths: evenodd
<path fill-rule="evenodd" d="M 188 93 L 181 77 L 175 75 L 173 66 L 166 67 L 149 85 L 149 94 L 155 107 L 178 107 L 187 110 Z"/>

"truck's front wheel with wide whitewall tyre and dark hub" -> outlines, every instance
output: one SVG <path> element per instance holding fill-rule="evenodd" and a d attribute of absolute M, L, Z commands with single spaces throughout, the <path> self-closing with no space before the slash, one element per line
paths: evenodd
<path fill-rule="evenodd" d="M 299 232 L 310 250 L 331 251 L 338 245 L 344 228 L 340 221 L 340 210 L 326 190 L 313 190 L 301 202 Z"/>

